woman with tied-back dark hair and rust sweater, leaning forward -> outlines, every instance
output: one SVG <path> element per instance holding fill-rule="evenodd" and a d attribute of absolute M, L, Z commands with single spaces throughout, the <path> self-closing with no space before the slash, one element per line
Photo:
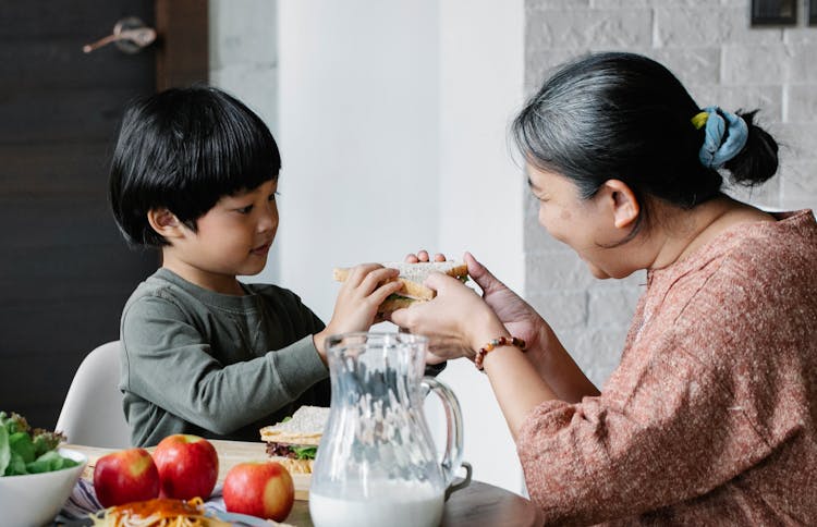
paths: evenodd
<path fill-rule="evenodd" d="M 539 223 L 599 279 L 647 270 L 600 392 L 468 254 L 481 296 L 436 274 L 392 314 L 484 370 L 549 523 L 817 524 L 817 223 L 722 193 L 777 170 L 754 117 L 629 53 L 564 65 L 516 117 Z"/>

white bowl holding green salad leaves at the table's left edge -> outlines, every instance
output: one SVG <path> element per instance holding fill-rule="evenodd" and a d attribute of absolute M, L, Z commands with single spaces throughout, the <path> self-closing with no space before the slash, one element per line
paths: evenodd
<path fill-rule="evenodd" d="M 88 463 L 87 457 L 74 450 L 60 449 L 59 453 L 80 464 L 51 473 L 0 477 L 2 525 L 41 527 L 53 523 Z"/>

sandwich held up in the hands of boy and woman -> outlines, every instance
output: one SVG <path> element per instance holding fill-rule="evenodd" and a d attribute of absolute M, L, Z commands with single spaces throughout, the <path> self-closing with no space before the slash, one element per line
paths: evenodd
<path fill-rule="evenodd" d="M 383 267 L 397 269 L 400 275 L 397 278 L 403 284 L 399 293 L 390 295 L 378 309 L 379 312 L 391 312 L 397 309 L 408 307 L 417 302 L 427 302 L 437 296 L 437 292 L 423 283 L 432 272 L 441 272 L 463 282 L 468 280 L 468 266 L 463 261 L 419 261 L 408 264 L 405 261 L 387 261 Z M 333 278 L 338 282 L 345 282 L 351 272 L 350 268 L 336 268 Z"/>

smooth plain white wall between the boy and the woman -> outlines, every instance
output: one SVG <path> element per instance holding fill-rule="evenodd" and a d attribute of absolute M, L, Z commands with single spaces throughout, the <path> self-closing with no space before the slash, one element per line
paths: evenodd
<path fill-rule="evenodd" d="M 426 247 L 470 249 L 521 290 L 524 191 L 505 127 L 523 86 L 522 0 L 278 9 L 280 283 L 329 320 L 333 266 Z M 464 361 L 441 380 L 463 406 L 475 478 L 520 492 L 487 379 Z"/>

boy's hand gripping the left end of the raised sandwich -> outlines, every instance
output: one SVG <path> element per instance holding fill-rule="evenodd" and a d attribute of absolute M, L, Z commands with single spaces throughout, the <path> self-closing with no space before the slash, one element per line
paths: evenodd
<path fill-rule="evenodd" d="M 315 347 L 325 363 L 324 341 L 327 336 L 367 331 L 373 323 L 380 321 L 377 308 L 403 286 L 395 280 L 398 275 L 400 271 L 385 268 L 380 264 L 363 264 L 352 268 L 338 292 L 332 319 L 324 331 L 314 336 Z"/>

